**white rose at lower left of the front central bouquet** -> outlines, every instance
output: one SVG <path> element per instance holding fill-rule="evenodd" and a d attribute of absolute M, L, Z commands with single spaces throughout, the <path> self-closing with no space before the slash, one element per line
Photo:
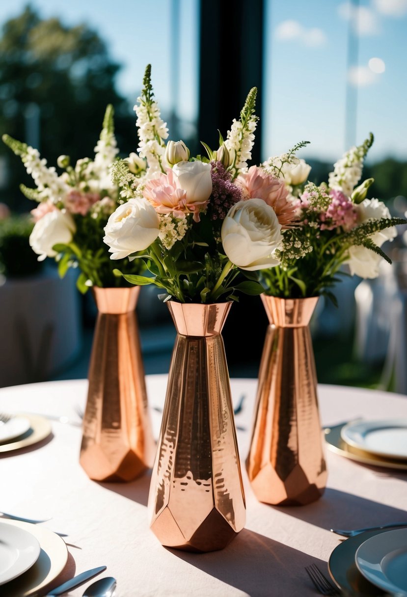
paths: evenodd
<path fill-rule="evenodd" d="M 144 251 L 158 236 L 159 219 L 147 199 L 130 199 L 119 205 L 107 220 L 103 241 L 109 245 L 110 259 L 123 259 Z"/>

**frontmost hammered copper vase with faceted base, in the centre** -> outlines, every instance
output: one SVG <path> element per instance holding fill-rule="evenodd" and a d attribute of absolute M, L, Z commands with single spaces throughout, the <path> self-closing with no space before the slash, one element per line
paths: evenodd
<path fill-rule="evenodd" d="M 149 495 L 167 547 L 223 549 L 245 524 L 245 496 L 221 329 L 231 303 L 168 302 L 177 328 Z"/>

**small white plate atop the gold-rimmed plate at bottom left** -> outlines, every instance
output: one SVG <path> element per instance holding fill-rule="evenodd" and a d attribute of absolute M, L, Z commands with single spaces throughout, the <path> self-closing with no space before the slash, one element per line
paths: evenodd
<path fill-rule="evenodd" d="M 0 584 L 28 570 L 39 556 L 38 540 L 28 531 L 0 522 Z"/>

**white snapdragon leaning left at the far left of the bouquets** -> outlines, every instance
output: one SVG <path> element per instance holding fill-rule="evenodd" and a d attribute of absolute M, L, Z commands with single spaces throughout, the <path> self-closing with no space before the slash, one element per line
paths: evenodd
<path fill-rule="evenodd" d="M 58 176 L 53 166 L 47 167 L 47 160 L 41 159 L 38 149 L 27 146 L 27 151 L 21 156 L 27 173 L 30 174 L 39 191 L 41 201 L 50 199 L 53 203 L 63 198 L 69 186 Z"/>

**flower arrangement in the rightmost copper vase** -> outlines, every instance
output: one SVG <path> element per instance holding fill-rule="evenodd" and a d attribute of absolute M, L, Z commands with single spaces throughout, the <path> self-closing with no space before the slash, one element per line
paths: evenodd
<path fill-rule="evenodd" d="M 352 275 L 375 278 L 382 258 L 391 263 L 381 246 L 396 236 L 394 226 L 405 220 L 391 218 L 378 199 L 366 199 L 374 179 L 357 186 L 372 143 L 370 134 L 360 146 L 352 147 L 334 165 L 328 184 L 320 186 L 306 181 L 310 167 L 294 154 L 263 164 L 263 171 L 283 180 L 297 199 L 297 221 L 283 232 L 276 251 L 280 264 L 261 272 L 266 294 L 280 298 L 325 294 L 336 303 L 330 289 L 340 280 L 337 275 L 343 264 Z"/>

